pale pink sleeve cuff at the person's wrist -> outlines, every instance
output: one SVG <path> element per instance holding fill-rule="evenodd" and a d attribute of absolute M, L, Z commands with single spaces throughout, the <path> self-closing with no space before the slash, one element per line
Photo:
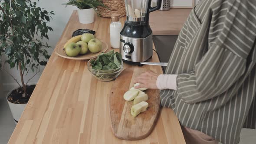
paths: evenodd
<path fill-rule="evenodd" d="M 177 90 L 177 75 L 159 75 L 157 79 L 157 87 L 158 89 L 173 89 Z"/>

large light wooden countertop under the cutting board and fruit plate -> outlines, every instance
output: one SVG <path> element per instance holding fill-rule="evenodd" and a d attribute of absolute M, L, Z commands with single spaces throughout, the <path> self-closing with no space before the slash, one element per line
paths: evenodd
<path fill-rule="evenodd" d="M 110 22 L 108 18 L 96 16 L 94 23 L 80 24 L 74 11 L 57 46 L 66 43 L 79 28 L 95 30 L 96 37 L 110 46 Z M 149 61 L 158 62 L 158 56 L 153 54 Z M 87 62 L 64 59 L 53 52 L 9 144 L 185 144 L 179 121 L 170 108 L 161 108 L 149 137 L 140 141 L 116 138 L 108 111 L 114 81 L 97 81 L 87 70 Z M 137 66 L 125 64 L 124 67 Z M 143 68 L 162 71 L 160 66 Z"/>

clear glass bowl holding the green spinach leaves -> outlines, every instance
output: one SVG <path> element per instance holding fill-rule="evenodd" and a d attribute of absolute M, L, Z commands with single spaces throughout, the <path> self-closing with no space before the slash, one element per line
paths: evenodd
<path fill-rule="evenodd" d="M 121 73 L 121 70 L 123 69 L 123 64 L 124 64 L 123 61 L 121 61 L 121 66 L 116 69 L 109 69 L 109 70 L 92 69 L 92 64 L 91 64 L 92 60 L 93 59 L 90 59 L 87 62 L 87 69 L 96 79 L 103 82 L 108 82 L 108 81 L 112 81 L 113 79 L 116 79 L 118 75 Z"/>

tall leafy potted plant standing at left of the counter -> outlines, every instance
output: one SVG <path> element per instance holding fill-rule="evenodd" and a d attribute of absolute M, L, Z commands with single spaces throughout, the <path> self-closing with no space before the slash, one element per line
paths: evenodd
<path fill-rule="evenodd" d="M 46 49 L 51 48 L 42 39 L 48 38 L 48 31 L 53 31 L 48 26 L 53 12 L 36 7 L 36 2 L 31 0 L 0 0 L 0 53 L 5 55 L 4 67 L 10 65 L 17 69 L 20 82 L 7 72 L 19 85 L 7 94 L 7 101 L 14 120 L 20 119 L 26 103 L 32 94 L 35 85 L 28 82 L 39 73 L 39 66 L 46 65 L 49 59 Z M 28 72 L 33 76 L 25 83 L 24 77 Z"/>

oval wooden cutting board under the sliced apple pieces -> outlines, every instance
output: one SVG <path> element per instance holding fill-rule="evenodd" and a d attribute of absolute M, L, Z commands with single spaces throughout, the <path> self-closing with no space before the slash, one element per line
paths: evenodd
<path fill-rule="evenodd" d="M 148 110 L 135 118 L 131 116 L 133 101 L 125 101 L 123 98 L 124 93 L 133 86 L 134 79 L 145 71 L 143 68 L 125 69 L 112 86 L 109 98 L 111 126 L 115 136 L 120 139 L 140 140 L 148 137 L 158 119 L 161 102 L 159 90 L 144 91 L 148 95 Z"/>

